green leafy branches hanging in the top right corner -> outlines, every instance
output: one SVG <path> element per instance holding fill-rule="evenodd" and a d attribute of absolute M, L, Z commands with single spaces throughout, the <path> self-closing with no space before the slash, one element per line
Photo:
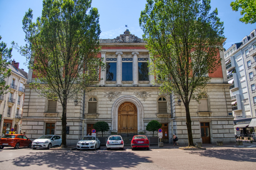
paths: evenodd
<path fill-rule="evenodd" d="M 241 17 L 239 21 L 246 24 L 253 24 L 256 22 L 256 0 L 236 0 L 230 3 L 233 11 L 238 11 L 239 8 Z"/>

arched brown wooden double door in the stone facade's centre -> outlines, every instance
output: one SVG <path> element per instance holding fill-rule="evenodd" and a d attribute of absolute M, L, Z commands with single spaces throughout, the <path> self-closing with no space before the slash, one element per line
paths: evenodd
<path fill-rule="evenodd" d="M 137 132 L 137 107 L 131 102 L 124 102 L 118 108 L 118 134 L 134 136 Z"/>

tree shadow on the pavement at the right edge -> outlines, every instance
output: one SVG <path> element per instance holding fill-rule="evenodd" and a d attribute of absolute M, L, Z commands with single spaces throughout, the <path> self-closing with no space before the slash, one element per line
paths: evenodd
<path fill-rule="evenodd" d="M 193 151 L 190 154 L 213 157 L 223 160 L 236 160 L 237 162 L 256 162 L 256 154 L 253 149 L 210 149 L 205 151 Z"/>

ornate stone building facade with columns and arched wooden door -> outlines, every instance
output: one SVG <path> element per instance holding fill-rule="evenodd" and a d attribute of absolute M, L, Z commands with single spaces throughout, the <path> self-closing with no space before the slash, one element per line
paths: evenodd
<path fill-rule="evenodd" d="M 149 52 L 146 43 L 126 30 L 114 39 L 100 39 L 105 71 L 100 72 L 99 87 L 79 98 L 78 105 L 68 102 L 67 143 L 75 144 L 79 138 L 91 132 L 93 124 L 106 121 L 110 134 L 133 136 L 145 134 L 146 125 L 151 120 L 162 123 L 164 142 L 172 142 L 172 134 L 177 134 L 179 143 L 188 143 L 185 124 L 185 108 L 179 106 L 178 97 L 160 94 L 159 87 L 152 84 L 153 75 L 148 75 Z M 220 57 L 224 57 L 220 51 Z M 224 62 L 224 61 L 223 61 Z M 214 143 L 216 141 L 235 142 L 229 84 L 227 84 L 225 63 L 209 76 L 211 82 L 205 88 L 207 95 L 198 104 L 190 105 L 194 141 Z M 35 75 L 29 70 L 28 83 Z M 84 107 L 83 107 L 84 104 Z M 84 108 L 84 111 L 83 111 Z M 84 115 L 83 115 L 84 112 Z M 61 134 L 61 105 L 38 94 L 26 85 L 23 110 L 22 132 L 31 139 L 45 134 Z M 101 133 L 98 133 L 98 135 Z"/>

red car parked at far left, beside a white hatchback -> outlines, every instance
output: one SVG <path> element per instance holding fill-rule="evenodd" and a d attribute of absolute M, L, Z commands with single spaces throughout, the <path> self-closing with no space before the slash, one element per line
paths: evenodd
<path fill-rule="evenodd" d="M 32 141 L 24 135 L 12 134 L 5 135 L 0 139 L 0 149 L 4 147 L 14 147 L 19 149 L 20 147 L 31 148 Z"/>

